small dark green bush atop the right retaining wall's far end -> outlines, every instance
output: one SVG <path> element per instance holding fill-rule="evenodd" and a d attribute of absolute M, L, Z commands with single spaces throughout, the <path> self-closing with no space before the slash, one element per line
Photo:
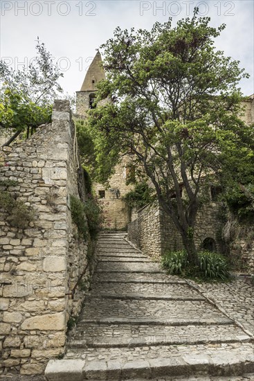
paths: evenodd
<path fill-rule="evenodd" d="M 135 184 L 134 190 L 130 190 L 124 197 L 123 200 L 127 203 L 130 208 L 143 208 L 143 206 L 150 204 L 154 201 L 153 194 L 154 190 L 149 188 L 145 181 L 140 181 Z"/>

